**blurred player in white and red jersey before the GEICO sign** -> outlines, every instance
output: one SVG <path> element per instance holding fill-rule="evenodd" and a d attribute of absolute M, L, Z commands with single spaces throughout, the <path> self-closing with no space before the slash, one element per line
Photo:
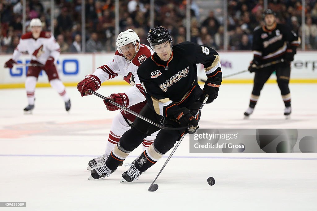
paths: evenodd
<path fill-rule="evenodd" d="M 42 22 L 34 18 L 30 22 L 31 32 L 21 36 L 20 42 L 13 52 L 12 58 L 4 64 L 4 67 L 12 68 L 23 52 L 31 56 L 30 66 L 26 75 L 25 89 L 28 98 L 28 106 L 24 109 L 30 112 L 34 109 L 34 91 L 37 78 L 43 69 L 49 77 L 50 85 L 60 94 L 65 102 L 65 108 L 70 109 L 70 100 L 66 94 L 65 86 L 58 77 L 56 62 L 60 56 L 60 46 L 50 32 L 42 31 Z"/>

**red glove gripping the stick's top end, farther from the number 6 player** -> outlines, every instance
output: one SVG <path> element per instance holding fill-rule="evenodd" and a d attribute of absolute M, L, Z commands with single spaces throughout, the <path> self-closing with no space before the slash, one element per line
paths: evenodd
<path fill-rule="evenodd" d="M 87 96 L 91 95 L 88 92 L 89 89 L 96 91 L 99 89 L 100 84 L 100 79 L 97 76 L 87 75 L 85 79 L 81 80 L 81 82 L 77 84 L 77 89 L 81 93 L 81 96 Z"/>

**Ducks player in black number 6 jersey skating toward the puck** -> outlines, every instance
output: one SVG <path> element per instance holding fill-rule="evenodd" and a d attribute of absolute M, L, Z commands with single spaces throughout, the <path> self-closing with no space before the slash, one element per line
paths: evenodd
<path fill-rule="evenodd" d="M 146 91 L 147 104 L 139 113 L 152 121 L 163 122 L 168 127 L 188 126 L 189 132 L 197 129 L 200 108 L 205 95 L 206 103 L 218 96 L 222 82 L 220 57 L 207 46 L 183 42 L 173 46 L 168 30 L 162 26 L 151 29 L 147 37 L 154 54 L 138 68 L 138 76 Z M 197 82 L 197 63 L 204 65 L 208 77 L 202 90 Z M 131 129 L 126 131 L 117 146 L 111 151 L 106 166 L 94 169 L 95 179 L 109 176 L 129 153 L 137 148 L 147 134 L 158 131 L 140 118 L 136 118 Z M 155 164 L 179 140 L 185 130 L 160 130 L 155 141 L 122 174 L 131 182 Z"/>

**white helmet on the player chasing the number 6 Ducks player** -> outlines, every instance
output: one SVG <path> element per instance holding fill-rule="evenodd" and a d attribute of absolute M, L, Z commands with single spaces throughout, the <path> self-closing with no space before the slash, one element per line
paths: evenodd
<path fill-rule="evenodd" d="M 133 43 L 134 47 L 135 47 L 135 51 L 138 52 L 139 49 L 137 50 L 136 46 L 137 46 L 137 42 L 140 43 L 140 38 L 137 35 L 137 33 L 135 33 L 135 31 L 133 31 L 132 29 L 128 29 L 126 31 L 121 32 L 116 40 L 116 45 L 117 45 L 117 49 L 119 51 L 120 54 L 122 54 L 122 51 L 120 50 L 120 47 L 125 46 L 129 43 Z"/>

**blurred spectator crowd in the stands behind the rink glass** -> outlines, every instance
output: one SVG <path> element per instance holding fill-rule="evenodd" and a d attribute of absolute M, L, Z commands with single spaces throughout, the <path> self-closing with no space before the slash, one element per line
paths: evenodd
<path fill-rule="evenodd" d="M 81 35 L 81 1 L 55 0 L 54 11 L 49 0 L 27 0 L 26 25 L 32 18 L 40 18 L 43 30 L 50 30 L 51 12 L 54 12 L 54 36 L 61 52 L 82 51 L 85 39 L 86 52 L 114 51 L 115 15 L 114 0 L 85 0 L 86 36 Z M 22 35 L 22 0 L 1 0 L 1 51 L 12 53 Z M 150 4 L 146 0 L 120 0 L 120 31 L 135 30 L 141 42 L 147 44 L 150 29 Z M 317 2 L 306 0 L 305 24 L 301 26 L 302 5 L 299 0 L 268 0 L 268 8 L 276 12 L 278 23 L 284 23 L 302 36 L 305 31 L 305 48 L 317 49 Z M 202 18 L 202 10 L 206 15 Z M 224 19 L 216 16 L 222 7 L 200 8 L 191 1 L 191 41 L 216 50 L 224 49 Z M 263 0 L 228 0 L 228 50 L 251 50 L 252 32 L 263 24 Z M 219 14 L 222 14 L 221 12 Z M 155 0 L 154 25 L 162 25 L 172 35 L 174 43 L 186 40 L 186 0 Z"/>

